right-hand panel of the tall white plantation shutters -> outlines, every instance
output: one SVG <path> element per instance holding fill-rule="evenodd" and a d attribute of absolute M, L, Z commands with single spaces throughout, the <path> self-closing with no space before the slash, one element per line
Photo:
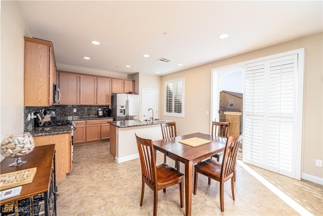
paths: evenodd
<path fill-rule="evenodd" d="M 267 169 L 293 176 L 297 55 L 268 61 Z M 294 108 L 295 107 L 295 108 Z"/>

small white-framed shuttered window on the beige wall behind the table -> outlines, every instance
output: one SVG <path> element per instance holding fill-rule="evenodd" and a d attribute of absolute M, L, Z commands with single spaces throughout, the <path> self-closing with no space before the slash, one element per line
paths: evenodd
<path fill-rule="evenodd" d="M 184 117 L 184 77 L 165 81 L 165 115 Z"/>

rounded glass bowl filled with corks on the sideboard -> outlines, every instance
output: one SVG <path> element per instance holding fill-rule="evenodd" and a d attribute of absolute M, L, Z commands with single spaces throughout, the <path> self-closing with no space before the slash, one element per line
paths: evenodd
<path fill-rule="evenodd" d="M 30 133 L 7 135 L 1 143 L 1 154 L 5 157 L 20 157 L 29 154 L 35 148 Z"/>

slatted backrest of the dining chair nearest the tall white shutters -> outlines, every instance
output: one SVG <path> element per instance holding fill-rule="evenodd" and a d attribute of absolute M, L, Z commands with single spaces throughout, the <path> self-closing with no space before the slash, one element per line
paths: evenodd
<path fill-rule="evenodd" d="M 242 136 L 228 137 L 221 165 L 221 179 L 233 176 Z"/>

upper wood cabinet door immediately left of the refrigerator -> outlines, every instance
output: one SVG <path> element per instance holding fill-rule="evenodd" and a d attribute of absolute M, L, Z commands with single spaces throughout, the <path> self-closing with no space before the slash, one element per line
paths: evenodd
<path fill-rule="evenodd" d="M 98 105 L 111 105 L 111 79 L 97 77 L 96 102 Z"/>

